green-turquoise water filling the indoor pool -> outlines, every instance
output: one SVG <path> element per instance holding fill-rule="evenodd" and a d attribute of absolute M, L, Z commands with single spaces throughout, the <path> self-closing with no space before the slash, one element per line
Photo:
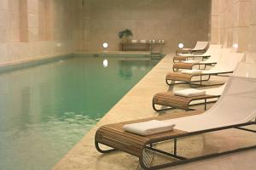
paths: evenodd
<path fill-rule="evenodd" d="M 1 74 L 0 169 L 53 167 L 158 61 L 79 56 Z"/>

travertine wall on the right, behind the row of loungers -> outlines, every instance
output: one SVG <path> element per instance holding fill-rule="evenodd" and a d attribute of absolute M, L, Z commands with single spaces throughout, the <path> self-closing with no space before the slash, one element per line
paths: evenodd
<path fill-rule="evenodd" d="M 256 0 L 212 0 L 211 42 L 247 53 L 256 61 Z"/>

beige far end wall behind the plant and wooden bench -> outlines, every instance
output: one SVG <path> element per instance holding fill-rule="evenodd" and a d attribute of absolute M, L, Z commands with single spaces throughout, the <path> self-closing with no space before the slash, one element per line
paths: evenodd
<path fill-rule="evenodd" d="M 211 1 L 209 0 L 86 0 L 79 6 L 77 50 L 119 50 L 118 32 L 131 29 L 132 39 L 164 39 L 164 51 L 207 40 Z"/>

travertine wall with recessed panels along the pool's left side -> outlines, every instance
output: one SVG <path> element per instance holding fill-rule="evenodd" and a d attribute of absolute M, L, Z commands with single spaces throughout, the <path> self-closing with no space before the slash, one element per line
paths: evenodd
<path fill-rule="evenodd" d="M 74 51 L 78 0 L 0 0 L 0 65 Z"/>

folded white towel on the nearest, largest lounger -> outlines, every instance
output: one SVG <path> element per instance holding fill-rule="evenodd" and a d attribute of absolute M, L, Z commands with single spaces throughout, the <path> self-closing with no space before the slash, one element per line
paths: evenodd
<path fill-rule="evenodd" d="M 127 124 L 123 126 L 123 129 L 130 133 L 136 133 L 139 135 L 150 135 L 155 133 L 163 133 L 166 131 L 172 131 L 175 124 L 171 122 L 152 120 L 148 122 L 138 122 Z"/>

